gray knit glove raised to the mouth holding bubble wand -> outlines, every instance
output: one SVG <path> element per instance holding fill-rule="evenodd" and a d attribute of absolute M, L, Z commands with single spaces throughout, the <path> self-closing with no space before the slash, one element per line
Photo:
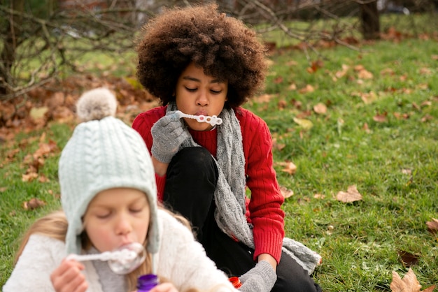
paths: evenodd
<path fill-rule="evenodd" d="M 153 138 L 152 155 L 162 163 L 169 163 L 184 140 L 189 137 L 181 117 L 176 112 L 171 112 L 155 122 L 150 133 Z"/>

